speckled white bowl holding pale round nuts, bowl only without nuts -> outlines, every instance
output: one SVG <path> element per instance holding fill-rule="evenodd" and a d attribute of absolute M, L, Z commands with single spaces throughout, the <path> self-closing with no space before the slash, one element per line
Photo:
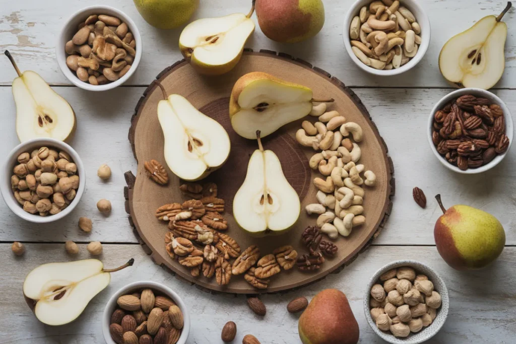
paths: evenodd
<path fill-rule="evenodd" d="M 371 314 L 369 312 L 369 299 L 370 299 L 370 290 L 371 287 L 373 287 L 374 284 L 378 283 L 380 279 L 380 275 L 384 272 L 387 272 L 394 268 L 409 266 L 416 270 L 416 273 L 423 273 L 425 274 L 430 281 L 432 281 L 434 290 L 439 292 L 441 295 L 441 307 L 437 309 L 437 316 L 436 319 L 432 321 L 432 323 L 427 326 L 423 327 L 423 329 L 420 332 L 417 333 L 411 333 L 408 337 L 405 338 L 398 338 L 394 337 L 391 332 L 384 332 L 378 329 L 376 326 L 376 323 L 371 318 Z M 434 335 L 436 335 L 439 330 L 441 330 L 441 327 L 444 325 L 444 322 L 446 321 L 446 317 L 448 316 L 448 307 L 449 307 L 449 299 L 448 299 L 448 290 L 446 289 L 446 286 L 444 285 L 444 281 L 441 279 L 441 277 L 437 274 L 435 270 L 430 268 L 429 266 L 420 263 L 416 260 L 396 260 L 392 263 L 389 263 L 382 268 L 380 268 L 371 278 L 369 281 L 369 284 L 367 285 L 367 290 L 364 295 L 364 312 L 365 312 L 365 318 L 367 319 L 367 322 L 369 323 L 369 326 L 375 331 L 375 333 L 380 336 L 383 340 L 388 341 L 392 344 L 419 344 L 422 343 L 430 338 L 432 338 Z"/>

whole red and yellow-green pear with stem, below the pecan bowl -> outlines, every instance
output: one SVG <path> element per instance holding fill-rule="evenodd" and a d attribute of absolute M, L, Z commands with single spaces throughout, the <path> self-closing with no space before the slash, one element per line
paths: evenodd
<path fill-rule="evenodd" d="M 504 227 L 491 214 L 467 205 L 443 210 L 433 230 L 437 250 L 456 270 L 480 269 L 492 263 L 504 250 Z"/>

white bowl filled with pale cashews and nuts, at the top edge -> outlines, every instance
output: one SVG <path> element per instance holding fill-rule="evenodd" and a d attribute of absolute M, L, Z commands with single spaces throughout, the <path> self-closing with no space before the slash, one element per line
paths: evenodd
<path fill-rule="evenodd" d="M 344 45 L 364 71 L 396 75 L 408 71 L 430 44 L 430 21 L 415 0 L 358 0 L 344 21 Z"/>

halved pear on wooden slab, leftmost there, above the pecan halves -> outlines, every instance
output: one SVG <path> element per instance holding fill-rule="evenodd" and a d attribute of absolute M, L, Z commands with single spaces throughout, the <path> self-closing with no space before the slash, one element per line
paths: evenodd
<path fill-rule="evenodd" d="M 160 87 L 166 97 L 165 89 Z M 171 94 L 159 101 L 157 112 L 165 138 L 165 160 L 181 179 L 202 179 L 228 159 L 231 150 L 228 133 L 181 95 Z"/>

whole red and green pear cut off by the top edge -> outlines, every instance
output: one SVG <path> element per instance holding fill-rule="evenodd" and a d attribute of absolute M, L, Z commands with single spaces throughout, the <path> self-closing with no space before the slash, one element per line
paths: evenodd
<path fill-rule="evenodd" d="M 276 42 L 304 41 L 324 25 L 321 0 L 256 0 L 255 8 L 263 33 Z"/>

